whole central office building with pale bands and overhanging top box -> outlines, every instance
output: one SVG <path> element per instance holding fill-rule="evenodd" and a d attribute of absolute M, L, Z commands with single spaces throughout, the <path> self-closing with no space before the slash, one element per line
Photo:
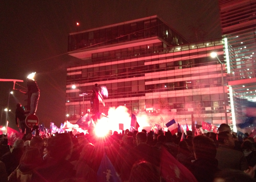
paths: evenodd
<path fill-rule="evenodd" d="M 141 18 L 70 33 L 69 55 L 81 59 L 67 68 L 66 114 L 75 122 L 91 108 L 95 83 L 106 86 L 106 106 L 126 106 L 134 114 L 147 114 L 153 123 L 174 118 L 191 124 L 226 123 L 221 64 L 223 41 L 188 41 L 158 16 Z M 223 68 L 225 69 L 225 68 Z M 225 70 L 223 70 L 224 72 Z M 72 85 L 76 85 L 73 89 Z M 227 102 L 227 122 L 232 123 Z M 156 121 L 156 118 L 158 121 Z"/>

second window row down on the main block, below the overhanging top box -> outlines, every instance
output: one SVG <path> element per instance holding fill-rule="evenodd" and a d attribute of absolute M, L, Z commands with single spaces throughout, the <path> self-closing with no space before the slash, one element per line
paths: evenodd
<path fill-rule="evenodd" d="M 145 96 L 145 93 L 151 92 L 220 87 L 222 86 L 222 80 L 221 78 L 209 78 L 150 85 L 145 85 L 145 80 L 135 80 L 105 84 L 105 86 L 108 89 L 108 98 L 126 98 Z M 91 86 L 82 87 L 81 90 L 90 93 L 91 88 Z M 66 93 L 66 99 L 69 101 L 81 101 L 82 98 L 79 97 L 79 94 L 79 92 Z M 90 95 L 87 95 L 84 98 L 88 100 L 90 97 Z"/>

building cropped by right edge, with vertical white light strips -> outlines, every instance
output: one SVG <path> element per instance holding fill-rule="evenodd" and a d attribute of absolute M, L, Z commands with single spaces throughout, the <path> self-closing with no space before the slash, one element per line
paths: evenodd
<path fill-rule="evenodd" d="M 245 119 L 243 99 L 256 101 L 256 0 L 219 0 L 219 8 L 235 126 Z"/>

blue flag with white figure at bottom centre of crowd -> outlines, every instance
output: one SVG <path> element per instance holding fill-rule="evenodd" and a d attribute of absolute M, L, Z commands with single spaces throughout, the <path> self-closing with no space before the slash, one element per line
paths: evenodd
<path fill-rule="evenodd" d="M 97 178 L 98 182 L 120 182 L 119 177 L 116 175 L 116 170 L 106 154 L 104 154 L 100 163 Z"/>

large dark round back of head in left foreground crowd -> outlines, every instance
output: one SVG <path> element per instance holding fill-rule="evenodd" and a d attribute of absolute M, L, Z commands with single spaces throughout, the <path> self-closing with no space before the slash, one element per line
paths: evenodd
<path fill-rule="evenodd" d="M 60 133 L 48 139 L 50 156 L 57 160 L 68 159 L 72 150 L 70 134 Z"/>

